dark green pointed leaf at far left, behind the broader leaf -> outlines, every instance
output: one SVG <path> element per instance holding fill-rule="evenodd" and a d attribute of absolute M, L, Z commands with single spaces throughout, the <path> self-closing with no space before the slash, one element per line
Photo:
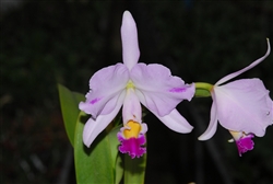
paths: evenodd
<path fill-rule="evenodd" d="M 79 103 L 85 97 L 81 93 L 72 92 L 66 87 L 58 84 L 62 118 L 66 131 L 71 145 L 74 145 L 75 123 L 80 113 Z"/>

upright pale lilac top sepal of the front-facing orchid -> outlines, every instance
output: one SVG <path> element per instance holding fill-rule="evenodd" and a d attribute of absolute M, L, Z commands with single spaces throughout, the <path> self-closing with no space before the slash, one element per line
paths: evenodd
<path fill-rule="evenodd" d="M 124 65 L 131 70 L 140 58 L 138 30 L 129 11 L 124 11 L 121 25 L 122 57 Z"/>

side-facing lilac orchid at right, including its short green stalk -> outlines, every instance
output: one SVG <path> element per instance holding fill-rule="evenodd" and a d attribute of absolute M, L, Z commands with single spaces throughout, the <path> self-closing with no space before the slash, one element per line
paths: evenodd
<path fill-rule="evenodd" d="M 273 124 L 273 102 L 263 82 L 260 79 L 240 79 L 223 83 L 256 67 L 269 56 L 270 49 L 268 39 L 266 54 L 248 67 L 222 78 L 214 85 L 195 83 L 197 89 L 207 89 L 213 99 L 210 125 L 199 140 L 207 140 L 215 134 L 217 120 L 232 134 L 239 156 L 253 149 L 254 136 L 264 136 L 265 128 Z"/>

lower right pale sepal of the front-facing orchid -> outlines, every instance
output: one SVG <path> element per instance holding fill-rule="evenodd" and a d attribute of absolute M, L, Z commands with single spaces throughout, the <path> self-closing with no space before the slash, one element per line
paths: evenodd
<path fill-rule="evenodd" d="M 188 123 L 188 120 L 178 113 L 176 108 L 173 110 L 168 115 L 162 117 L 156 115 L 156 117 L 162 120 L 162 123 L 169 129 L 177 133 L 190 133 L 193 128 Z"/>

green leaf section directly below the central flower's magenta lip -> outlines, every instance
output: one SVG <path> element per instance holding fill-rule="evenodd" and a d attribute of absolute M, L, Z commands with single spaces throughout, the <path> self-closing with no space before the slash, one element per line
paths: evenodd
<path fill-rule="evenodd" d="M 141 184 L 144 183 L 146 157 L 131 159 L 129 154 L 124 154 L 124 183 Z"/>

